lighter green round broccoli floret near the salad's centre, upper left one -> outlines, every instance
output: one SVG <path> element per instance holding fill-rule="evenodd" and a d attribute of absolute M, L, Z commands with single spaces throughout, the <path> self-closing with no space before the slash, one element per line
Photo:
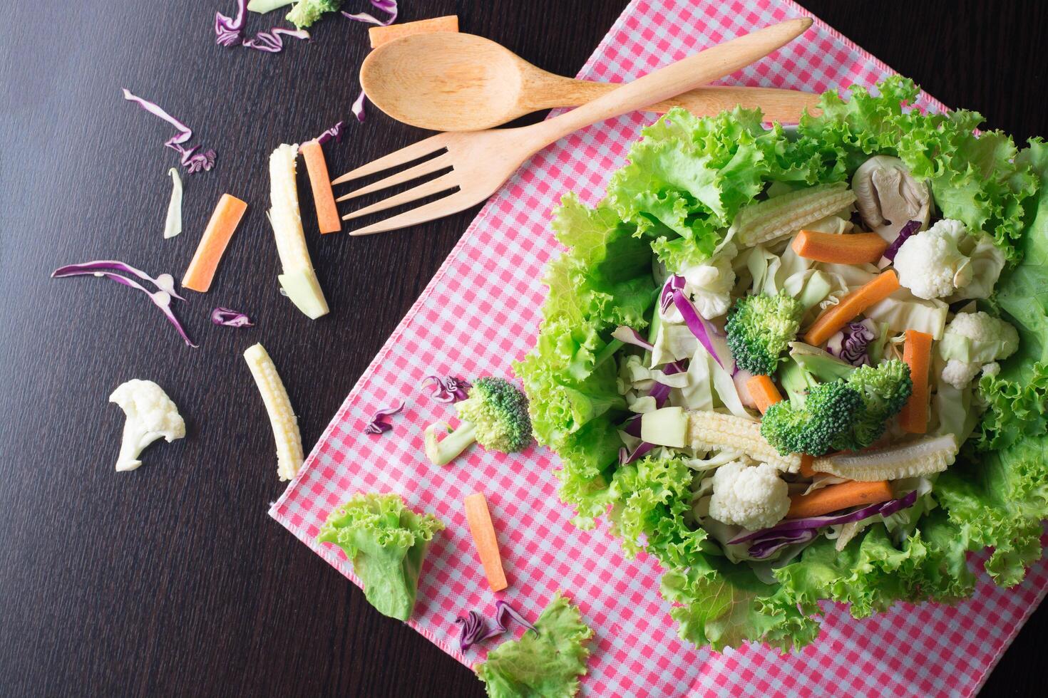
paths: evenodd
<path fill-rule="evenodd" d="M 727 319 L 727 345 L 736 364 L 755 376 L 776 373 L 779 358 L 801 329 L 804 307 L 785 292 L 745 296 Z"/>

